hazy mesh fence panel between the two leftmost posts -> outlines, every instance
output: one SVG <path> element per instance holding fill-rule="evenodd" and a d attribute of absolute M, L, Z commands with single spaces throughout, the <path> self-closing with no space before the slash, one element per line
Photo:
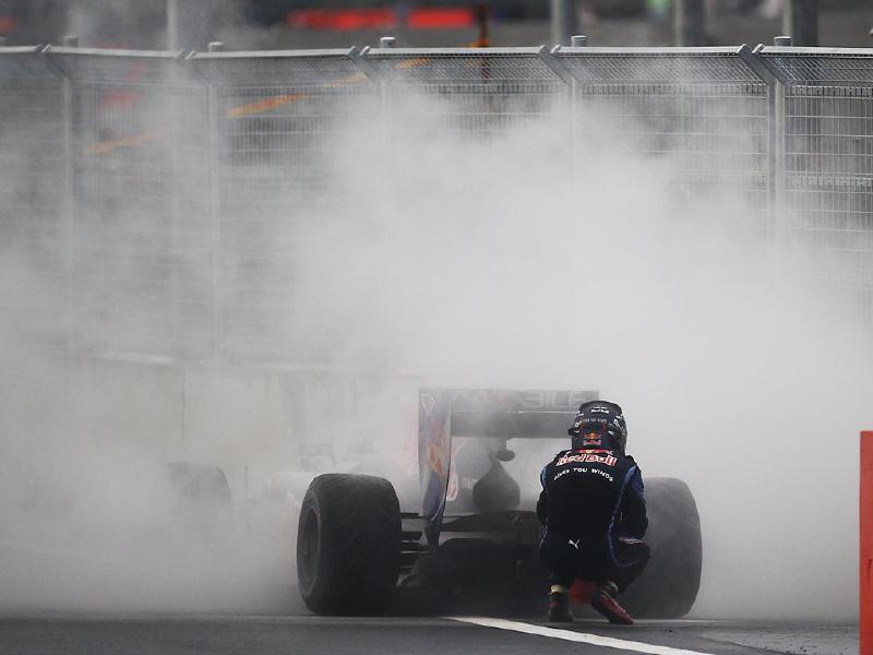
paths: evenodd
<path fill-rule="evenodd" d="M 205 90 L 179 56 L 49 48 L 69 84 L 71 340 L 210 355 Z"/>

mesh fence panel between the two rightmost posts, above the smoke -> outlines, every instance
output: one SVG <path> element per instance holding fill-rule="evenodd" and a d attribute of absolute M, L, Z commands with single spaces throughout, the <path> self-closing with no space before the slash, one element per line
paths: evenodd
<path fill-rule="evenodd" d="M 573 76 L 577 147 L 618 133 L 621 153 L 669 159 L 690 202 L 728 194 L 746 209 L 729 227 L 772 233 L 773 80 L 746 46 L 554 55 Z"/>

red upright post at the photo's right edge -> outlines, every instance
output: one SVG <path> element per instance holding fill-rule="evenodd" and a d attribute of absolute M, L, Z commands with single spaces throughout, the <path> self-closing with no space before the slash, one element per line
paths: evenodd
<path fill-rule="evenodd" d="M 873 655 L 873 432 L 861 432 L 860 484 L 859 654 Z"/>

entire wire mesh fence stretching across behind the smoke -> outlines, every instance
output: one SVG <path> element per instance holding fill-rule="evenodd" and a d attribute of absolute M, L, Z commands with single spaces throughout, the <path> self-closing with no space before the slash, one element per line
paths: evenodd
<path fill-rule="evenodd" d="M 669 162 L 690 202 L 741 201 L 732 227 L 814 253 L 873 318 L 872 100 L 866 50 L 0 48 L 0 230 L 65 282 L 56 341 L 320 366 L 344 325 L 304 278 L 354 262 L 360 229 L 335 206 L 344 141 L 487 141 L 548 116 L 567 168 L 618 131 L 619 155 Z"/>

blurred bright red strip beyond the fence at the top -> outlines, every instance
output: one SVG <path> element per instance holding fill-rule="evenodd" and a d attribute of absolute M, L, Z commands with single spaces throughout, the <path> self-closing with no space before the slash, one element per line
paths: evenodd
<path fill-rule="evenodd" d="M 404 16 L 400 20 L 400 16 Z M 451 29 L 471 27 L 476 12 L 464 7 L 412 9 L 398 13 L 392 9 L 300 9 L 285 16 L 288 27 L 301 29 L 391 29 L 400 24 L 412 29 Z"/>

